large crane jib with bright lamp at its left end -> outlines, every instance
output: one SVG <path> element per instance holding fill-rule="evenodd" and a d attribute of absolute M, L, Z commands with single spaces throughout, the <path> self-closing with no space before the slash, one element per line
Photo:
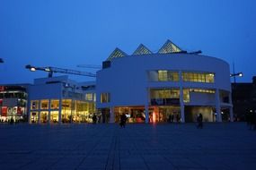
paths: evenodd
<path fill-rule="evenodd" d="M 26 69 L 29 69 L 31 72 L 35 72 L 37 70 L 39 71 L 44 71 L 44 72 L 49 72 L 48 77 L 53 76 L 53 72 L 60 72 L 60 73 L 67 73 L 67 74 L 75 74 L 75 75 L 82 75 L 82 76 L 88 76 L 88 77 L 96 77 L 96 74 L 92 72 L 80 72 L 80 71 L 75 71 L 75 70 L 70 70 L 70 69 L 62 69 L 62 68 L 57 68 L 57 67 L 35 67 L 30 64 L 25 66 Z"/>

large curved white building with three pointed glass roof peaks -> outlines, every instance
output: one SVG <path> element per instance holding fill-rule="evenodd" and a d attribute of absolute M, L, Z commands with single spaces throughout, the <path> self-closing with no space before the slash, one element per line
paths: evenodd
<path fill-rule="evenodd" d="M 229 64 L 187 53 L 172 41 L 157 53 L 144 45 L 132 55 L 116 48 L 96 78 L 96 106 L 110 123 L 128 115 L 129 123 L 233 120 Z"/>

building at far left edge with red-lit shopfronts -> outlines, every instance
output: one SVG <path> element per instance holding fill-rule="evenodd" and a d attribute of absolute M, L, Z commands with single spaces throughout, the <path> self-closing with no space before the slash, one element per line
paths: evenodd
<path fill-rule="evenodd" d="M 27 122 L 30 84 L 0 85 L 0 121 Z"/>

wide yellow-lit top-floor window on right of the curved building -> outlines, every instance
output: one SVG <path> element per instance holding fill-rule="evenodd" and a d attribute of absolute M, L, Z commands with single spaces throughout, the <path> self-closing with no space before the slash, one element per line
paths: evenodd
<path fill-rule="evenodd" d="M 191 82 L 208 82 L 213 83 L 215 80 L 214 73 L 208 72 L 182 72 L 182 80 L 183 81 L 191 81 Z"/>

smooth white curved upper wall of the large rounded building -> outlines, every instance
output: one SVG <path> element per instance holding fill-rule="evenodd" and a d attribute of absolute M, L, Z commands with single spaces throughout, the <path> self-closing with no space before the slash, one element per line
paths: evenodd
<path fill-rule="evenodd" d="M 147 71 L 214 72 L 214 83 L 149 81 Z M 110 68 L 97 72 L 97 107 L 143 106 L 147 88 L 183 87 L 231 91 L 229 64 L 215 57 L 191 54 L 130 55 L 114 58 Z M 101 93 L 110 93 L 110 103 L 101 103 Z"/>

